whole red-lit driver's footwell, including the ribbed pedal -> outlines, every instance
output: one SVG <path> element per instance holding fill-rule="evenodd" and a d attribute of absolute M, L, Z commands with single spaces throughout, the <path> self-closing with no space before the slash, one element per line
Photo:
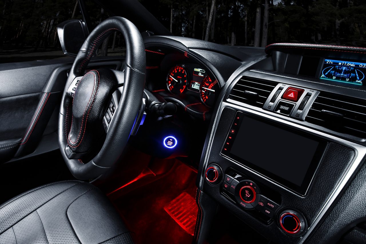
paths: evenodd
<path fill-rule="evenodd" d="M 137 234 L 139 243 L 191 243 L 198 211 L 194 200 L 196 177 L 193 169 L 176 161 L 163 178 L 109 198 Z"/>

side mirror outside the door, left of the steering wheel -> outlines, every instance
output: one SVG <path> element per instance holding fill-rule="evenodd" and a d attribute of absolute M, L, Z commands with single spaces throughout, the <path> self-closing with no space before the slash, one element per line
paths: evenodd
<path fill-rule="evenodd" d="M 89 35 L 84 22 L 78 19 L 66 20 L 57 26 L 57 34 L 65 55 L 76 57 Z"/>

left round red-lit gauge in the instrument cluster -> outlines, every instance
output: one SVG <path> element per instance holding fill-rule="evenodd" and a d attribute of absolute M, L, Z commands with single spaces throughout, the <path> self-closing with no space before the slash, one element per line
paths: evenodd
<path fill-rule="evenodd" d="M 173 94 L 183 93 L 187 87 L 187 72 L 181 66 L 173 67 L 167 76 L 168 90 Z"/>

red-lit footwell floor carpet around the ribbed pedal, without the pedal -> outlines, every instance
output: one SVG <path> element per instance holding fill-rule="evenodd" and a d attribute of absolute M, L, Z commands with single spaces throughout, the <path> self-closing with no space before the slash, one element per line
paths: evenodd
<path fill-rule="evenodd" d="M 136 233 L 138 243 L 192 243 L 193 236 L 180 227 L 164 207 L 182 192 L 194 199 L 196 178 L 196 172 L 187 165 L 178 163 L 160 180 L 112 200 L 130 230 Z"/>

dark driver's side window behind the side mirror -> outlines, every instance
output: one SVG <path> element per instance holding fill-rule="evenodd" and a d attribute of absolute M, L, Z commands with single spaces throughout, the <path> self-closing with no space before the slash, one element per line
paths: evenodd
<path fill-rule="evenodd" d="M 77 0 L 2 0 L 0 5 L 0 63 L 67 57 L 56 27 L 82 19 Z"/>

